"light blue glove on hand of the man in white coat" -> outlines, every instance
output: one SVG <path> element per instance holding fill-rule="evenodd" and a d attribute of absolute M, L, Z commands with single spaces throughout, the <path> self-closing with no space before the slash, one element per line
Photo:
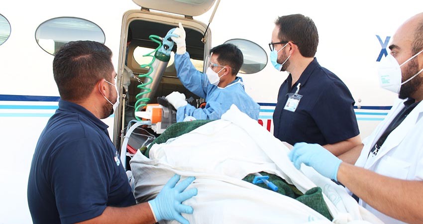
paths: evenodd
<path fill-rule="evenodd" d="M 296 143 L 288 156 L 297 169 L 304 163 L 321 175 L 338 181 L 336 176 L 342 161 L 319 144 Z"/>

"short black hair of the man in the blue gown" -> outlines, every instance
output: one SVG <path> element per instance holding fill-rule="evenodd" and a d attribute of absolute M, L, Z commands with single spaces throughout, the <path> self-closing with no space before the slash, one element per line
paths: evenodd
<path fill-rule="evenodd" d="M 229 65 L 232 68 L 232 75 L 236 75 L 244 63 L 244 56 L 241 50 L 233 44 L 220 44 L 210 50 L 210 54 L 217 55 L 217 62 L 220 65 Z"/>

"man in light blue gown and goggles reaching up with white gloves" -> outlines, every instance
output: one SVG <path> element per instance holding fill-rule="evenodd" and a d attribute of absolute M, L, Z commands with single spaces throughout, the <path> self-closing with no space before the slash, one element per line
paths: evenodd
<path fill-rule="evenodd" d="M 185 88 L 206 99 L 205 108 L 195 108 L 179 92 L 169 94 L 166 99 L 177 110 L 177 121 L 187 116 L 196 119 L 219 119 L 232 104 L 253 119 L 258 119 L 260 106 L 244 90 L 241 77 L 236 77 L 243 64 L 242 52 L 233 44 L 221 44 L 210 50 L 210 65 L 206 74 L 199 72 L 190 61 L 186 51 L 185 30 L 182 24 L 173 32 L 177 37 L 175 67 L 178 78 Z"/>

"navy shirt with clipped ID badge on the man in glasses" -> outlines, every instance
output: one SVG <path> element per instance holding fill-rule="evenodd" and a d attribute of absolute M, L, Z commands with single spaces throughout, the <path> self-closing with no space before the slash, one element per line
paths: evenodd
<path fill-rule="evenodd" d="M 295 112 L 284 110 L 288 94 L 303 97 Z M 333 144 L 357 136 L 354 99 L 345 84 L 332 72 L 321 67 L 315 58 L 292 84 L 291 74 L 282 83 L 273 113 L 275 137 L 292 145 L 297 142 Z M 292 87 L 291 87 L 292 86 Z"/>

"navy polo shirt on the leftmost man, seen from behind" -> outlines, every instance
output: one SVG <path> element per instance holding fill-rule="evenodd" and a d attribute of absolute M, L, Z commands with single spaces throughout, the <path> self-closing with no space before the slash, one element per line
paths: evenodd
<path fill-rule="evenodd" d="M 64 100 L 38 139 L 28 180 L 34 224 L 77 223 L 135 205 L 107 125 Z"/>

